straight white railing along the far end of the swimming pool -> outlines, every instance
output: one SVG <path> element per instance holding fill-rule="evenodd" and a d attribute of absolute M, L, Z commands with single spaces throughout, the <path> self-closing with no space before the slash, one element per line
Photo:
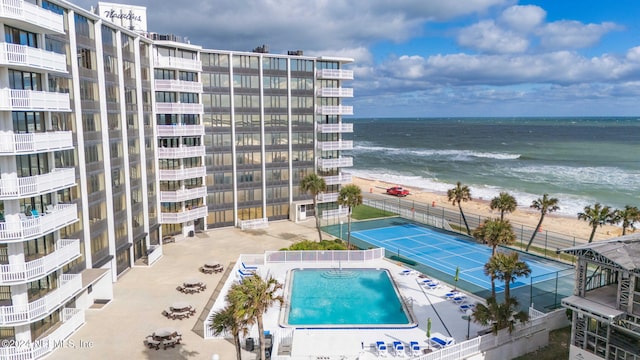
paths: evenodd
<path fill-rule="evenodd" d="M 368 250 L 265 251 L 265 264 L 292 262 L 364 262 L 384 258 L 384 248 Z"/>

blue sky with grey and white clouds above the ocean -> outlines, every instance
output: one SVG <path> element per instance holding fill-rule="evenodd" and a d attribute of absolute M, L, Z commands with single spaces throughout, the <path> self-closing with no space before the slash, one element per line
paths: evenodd
<path fill-rule="evenodd" d="M 353 117 L 640 116 L 637 0 L 120 3 L 204 48 L 352 58 Z"/>

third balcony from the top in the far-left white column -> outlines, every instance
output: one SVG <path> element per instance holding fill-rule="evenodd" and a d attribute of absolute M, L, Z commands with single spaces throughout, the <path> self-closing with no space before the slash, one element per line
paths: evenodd
<path fill-rule="evenodd" d="M 0 111 L 71 111 L 69 94 L 0 89 Z"/>

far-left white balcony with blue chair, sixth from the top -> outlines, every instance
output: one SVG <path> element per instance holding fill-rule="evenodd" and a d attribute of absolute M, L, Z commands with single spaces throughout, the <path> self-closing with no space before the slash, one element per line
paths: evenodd
<path fill-rule="evenodd" d="M 0 222 L 0 242 L 35 239 L 78 221 L 76 204 L 58 204 L 47 214 L 38 217 L 20 215 L 20 219 Z"/>

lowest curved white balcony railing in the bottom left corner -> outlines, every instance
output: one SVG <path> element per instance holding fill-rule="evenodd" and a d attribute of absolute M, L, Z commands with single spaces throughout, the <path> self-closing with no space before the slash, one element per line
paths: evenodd
<path fill-rule="evenodd" d="M 62 309 L 62 323 L 50 335 L 29 343 L 27 346 L 0 347 L 0 359 L 35 360 L 64 346 L 66 338 L 84 324 L 84 310 Z"/>

